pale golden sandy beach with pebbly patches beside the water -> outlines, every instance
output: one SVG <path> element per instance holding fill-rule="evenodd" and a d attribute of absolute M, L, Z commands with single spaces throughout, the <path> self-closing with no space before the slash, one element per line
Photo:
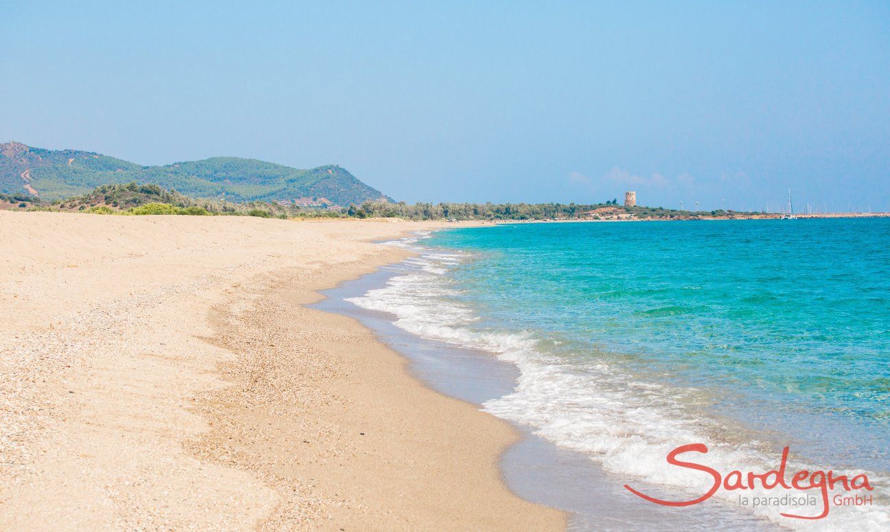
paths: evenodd
<path fill-rule="evenodd" d="M 441 225 L 0 212 L 0 529 L 564 528 L 508 424 L 303 306 Z"/>

